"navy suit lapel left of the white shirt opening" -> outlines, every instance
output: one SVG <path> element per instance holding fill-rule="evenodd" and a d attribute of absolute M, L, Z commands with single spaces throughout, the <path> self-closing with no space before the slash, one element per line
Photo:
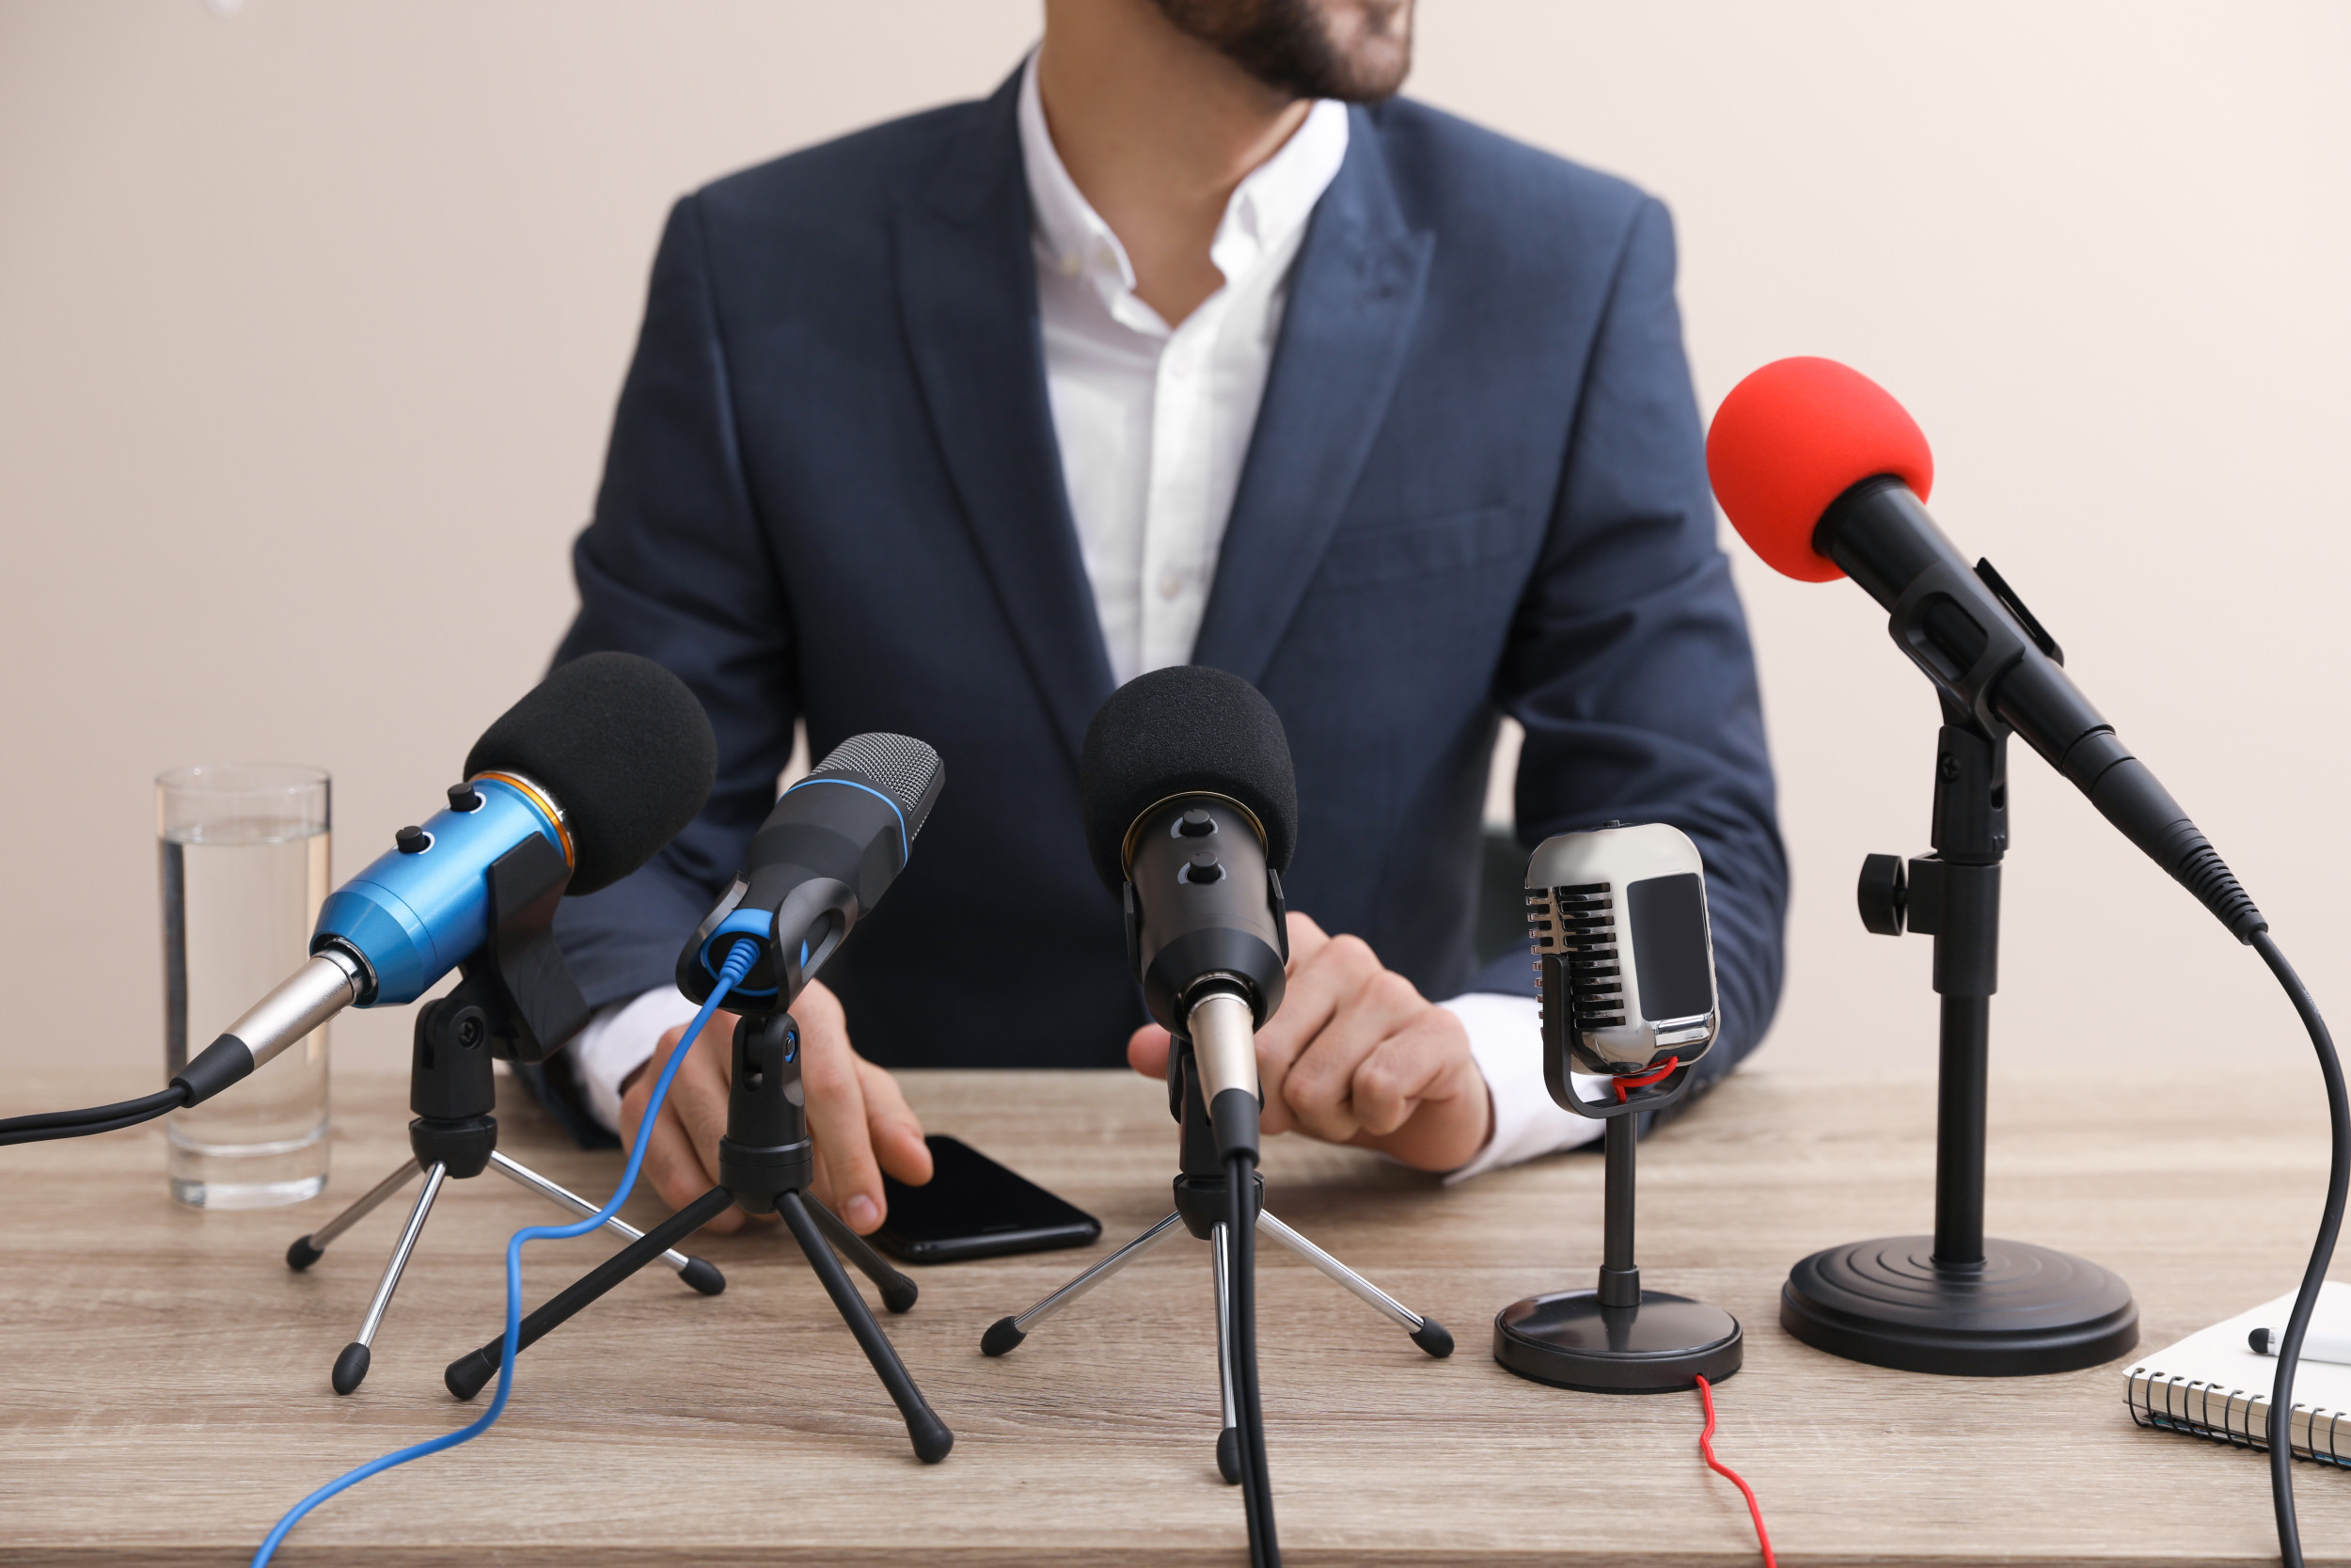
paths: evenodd
<path fill-rule="evenodd" d="M 898 207 L 898 308 L 964 522 L 1077 762 L 1110 696 L 1110 654 L 1053 444 L 1018 89 L 1013 73 L 938 181 Z"/>

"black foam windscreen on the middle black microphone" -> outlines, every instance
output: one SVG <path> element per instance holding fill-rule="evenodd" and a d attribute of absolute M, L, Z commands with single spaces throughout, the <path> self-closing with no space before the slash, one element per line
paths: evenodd
<path fill-rule="evenodd" d="M 1126 832 L 1171 795 L 1223 795 L 1265 825 L 1265 863 L 1291 867 L 1298 846 L 1298 776 L 1291 738 L 1265 693 L 1208 665 L 1138 675 L 1086 726 L 1077 799 L 1093 870 L 1126 882 Z"/>

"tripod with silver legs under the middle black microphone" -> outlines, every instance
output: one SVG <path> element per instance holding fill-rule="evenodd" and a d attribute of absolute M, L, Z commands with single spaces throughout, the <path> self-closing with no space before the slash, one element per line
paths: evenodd
<path fill-rule="evenodd" d="M 1241 1455 L 1239 1455 L 1239 1408 L 1234 1399 L 1234 1345 L 1230 1331 L 1230 1300 L 1232 1300 L 1232 1253 L 1234 1239 L 1227 1229 L 1232 1213 L 1232 1185 L 1225 1175 L 1225 1161 L 1215 1154 L 1215 1128 L 1208 1121 L 1208 1105 L 1201 1098 L 1199 1086 L 1199 1063 L 1192 1053 L 1192 1041 L 1178 1037 L 1168 1056 L 1168 1112 L 1183 1126 L 1180 1138 L 1180 1164 L 1183 1173 L 1176 1178 L 1176 1213 L 1152 1225 L 1147 1232 L 1103 1258 L 1091 1269 L 1065 1284 L 1063 1288 L 1046 1295 L 1041 1302 L 1030 1307 L 1018 1316 L 997 1319 L 980 1335 L 980 1349 L 990 1356 L 1002 1356 L 1020 1345 L 1037 1324 L 1053 1316 L 1079 1295 L 1103 1284 L 1119 1269 L 1124 1269 L 1136 1258 L 1143 1258 L 1154 1246 L 1176 1234 L 1183 1225 L 1197 1239 L 1206 1241 L 1211 1248 L 1211 1262 L 1215 1269 L 1215 1366 L 1218 1382 L 1223 1389 L 1225 1425 L 1215 1436 L 1215 1469 L 1227 1483 L 1237 1486 L 1241 1481 Z M 1255 1213 L 1255 1227 L 1291 1248 L 1326 1276 L 1345 1286 L 1364 1305 L 1368 1305 L 1380 1316 L 1389 1319 L 1404 1333 L 1413 1338 L 1413 1345 L 1429 1352 L 1432 1356 L 1453 1354 L 1453 1335 L 1432 1316 L 1420 1316 L 1394 1295 L 1371 1284 L 1345 1262 L 1321 1251 L 1302 1234 L 1277 1220 L 1265 1208 L 1265 1178 L 1251 1178 L 1253 1192 L 1251 1211 Z"/>

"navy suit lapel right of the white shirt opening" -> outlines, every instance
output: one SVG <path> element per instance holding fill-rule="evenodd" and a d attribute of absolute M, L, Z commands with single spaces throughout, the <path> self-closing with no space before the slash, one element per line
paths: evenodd
<path fill-rule="evenodd" d="M 1347 162 L 1314 207 L 1248 437 L 1192 663 L 1265 677 L 1371 456 L 1420 315 L 1434 237 L 1404 221 L 1378 129 L 1349 110 Z"/>

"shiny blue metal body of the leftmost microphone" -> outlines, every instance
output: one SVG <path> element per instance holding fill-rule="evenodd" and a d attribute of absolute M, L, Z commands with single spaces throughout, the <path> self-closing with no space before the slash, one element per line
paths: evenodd
<path fill-rule="evenodd" d="M 515 773 L 475 773 L 473 806 L 435 811 L 320 905 L 310 952 L 339 947 L 367 966 L 355 1006 L 416 1001 L 489 938 L 489 865 L 541 837 L 571 865 L 562 806 Z M 421 849 L 409 849 L 421 844 Z"/>

